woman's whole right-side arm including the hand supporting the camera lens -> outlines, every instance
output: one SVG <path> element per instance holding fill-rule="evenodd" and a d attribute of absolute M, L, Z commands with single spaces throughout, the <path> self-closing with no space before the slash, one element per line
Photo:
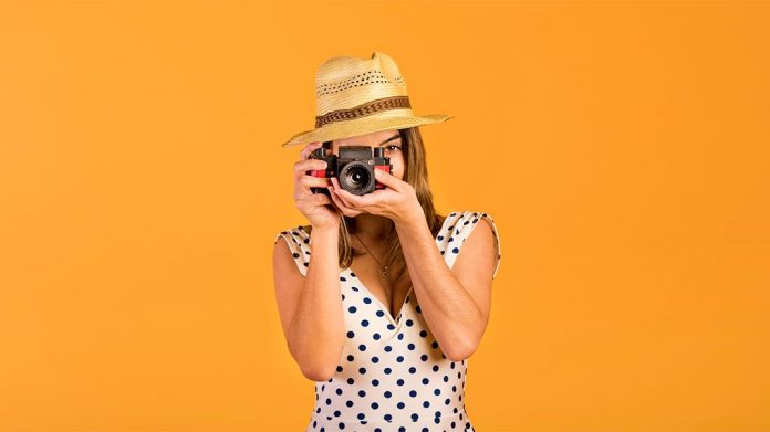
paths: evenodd
<path fill-rule="evenodd" d="M 355 196 L 335 189 L 345 209 L 362 210 L 393 220 L 425 320 L 452 360 L 470 357 L 479 346 L 489 319 L 489 303 L 498 259 L 491 225 L 474 228 L 450 270 L 436 247 L 415 189 L 379 169 L 377 180 L 387 188 Z M 350 202 L 350 206 L 347 204 Z M 490 253 L 491 252 L 491 253 Z"/>

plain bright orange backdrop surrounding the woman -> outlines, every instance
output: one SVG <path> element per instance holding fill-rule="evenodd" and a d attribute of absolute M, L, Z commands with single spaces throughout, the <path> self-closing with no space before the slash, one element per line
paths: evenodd
<path fill-rule="evenodd" d="M 479 431 L 770 431 L 770 3 L 0 6 L 0 430 L 299 431 L 271 254 L 333 55 L 490 213 Z"/>

